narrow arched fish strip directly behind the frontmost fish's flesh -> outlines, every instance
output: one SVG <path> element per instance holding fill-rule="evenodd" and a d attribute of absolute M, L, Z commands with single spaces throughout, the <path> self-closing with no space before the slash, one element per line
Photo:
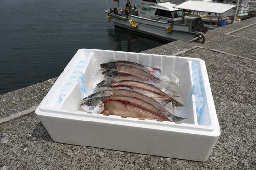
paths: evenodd
<path fill-rule="evenodd" d="M 180 121 L 179 117 L 174 116 L 171 112 L 166 110 L 164 108 L 164 106 L 162 106 L 159 102 L 157 102 L 153 98 L 148 97 L 146 95 L 143 95 L 143 94 L 141 94 L 139 92 L 136 92 L 136 91 L 133 91 L 133 90 L 127 90 L 127 89 L 103 90 L 103 91 L 96 92 L 96 93 L 84 98 L 83 101 L 87 101 L 88 99 L 91 99 L 93 97 L 110 96 L 110 95 L 114 95 L 114 94 L 115 95 L 124 95 L 124 96 L 128 96 L 128 97 L 135 97 L 135 98 L 139 98 L 141 100 L 144 100 L 144 101 L 152 104 L 156 108 L 158 108 L 165 116 L 167 116 L 170 119 L 170 121 L 173 121 L 173 122 Z"/>

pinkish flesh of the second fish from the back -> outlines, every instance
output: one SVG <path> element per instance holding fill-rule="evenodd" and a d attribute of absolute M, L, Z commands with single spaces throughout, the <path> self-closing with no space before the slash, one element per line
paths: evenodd
<path fill-rule="evenodd" d="M 102 74 L 111 76 L 111 77 L 115 77 L 118 75 L 129 75 L 129 76 L 141 78 L 146 81 L 148 79 L 157 80 L 157 78 L 155 78 L 153 75 L 131 66 L 117 66 L 117 67 L 111 68 L 110 70 L 102 72 Z"/>

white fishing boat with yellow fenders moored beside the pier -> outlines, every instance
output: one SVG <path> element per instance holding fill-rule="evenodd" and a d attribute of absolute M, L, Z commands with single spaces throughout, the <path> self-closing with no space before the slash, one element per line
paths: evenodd
<path fill-rule="evenodd" d="M 202 21 L 202 16 L 185 16 L 184 8 L 177 8 L 176 4 L 165 0 L 140 0 L 135 9 L 121 7 L 119 0 L 114 1 L 117 1 L 117 6 L 106 10 L 105 13 L 107 13 L 108 20 L 113 21 L 115 26 L 169 41 L 190 41 L 197 32 L 207 31 L 204 27 L 205 22 L 212 22 L 211 20 Z M 224 12 L 235 7 L 229 4 L 222 5 L 225 5 Z M 219 9 L 213 13 L 220 11 Z"/>

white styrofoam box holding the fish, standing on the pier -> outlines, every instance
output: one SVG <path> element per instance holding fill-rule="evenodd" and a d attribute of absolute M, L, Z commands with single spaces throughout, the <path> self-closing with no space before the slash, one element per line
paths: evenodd
<path fill-rule="evenodd" d="M 82 98 L 103 79 L 99 65 L 114 60 L 158 67 L 164 74 L 175 73 L 186 103 L 181 113 L 186 119 L 174 123 L 83 111 Z M 195 161 L 208 159 L 220 135 L 205 63 L 196 58 L 80 49 L 36 114 L 56 142 Z"/>

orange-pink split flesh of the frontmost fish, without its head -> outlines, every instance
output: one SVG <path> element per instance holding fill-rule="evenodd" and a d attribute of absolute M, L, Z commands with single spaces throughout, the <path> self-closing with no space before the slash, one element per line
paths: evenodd
<path fill-rule="evenodd" d="M 105 115 L 118 115 L 121 117 L 157 119 L 160 121 L 170 121 L 152 104 L 139 98 L 128 97 L 123 95 L 112 95 L 102 97 L 104 103 Z"/>

